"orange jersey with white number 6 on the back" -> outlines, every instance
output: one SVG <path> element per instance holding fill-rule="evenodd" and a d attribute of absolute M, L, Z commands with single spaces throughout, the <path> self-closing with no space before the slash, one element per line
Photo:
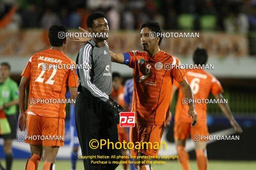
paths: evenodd
<path fill-rule="evenodd" d="M 210 92 L 213 95 L 223 92 L 220 82 L 213 75 L 203 69 L 187 69 L 186 78 L 193 91 L 194 99 L 207 99 Z M 179 88 L 175 120 L 191 122 L 192 117 L 188 116 L 188 105 L 182 104 L 182 99 L 185 98 L 182 89 L 177 81 L 174 81 L 174 85 Z M 198 121 L 206 121 L 207 104 L 202 103 L 201 101 L 201 103 L 194 103 L 194 105 L 198 115 Z"/>

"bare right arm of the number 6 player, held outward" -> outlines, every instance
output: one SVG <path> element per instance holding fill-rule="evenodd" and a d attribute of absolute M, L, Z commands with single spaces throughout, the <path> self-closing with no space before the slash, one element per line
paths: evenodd
<path fill-rule="evenodd" d="M 214 97 L 218 100 L 224 100 L 224 97 L 221 93 L 214 95 Z M 227 103 L 218 103 L 220 109 L 223 111 L 225 116 L 229 119 L 230 124 L 234 127 L 235 131 L 238 133 L 242 132 L 242 128 L 239 126 L 239 124 L 234 119 L 234 116 L 229 108 L 229 105 Z"/>

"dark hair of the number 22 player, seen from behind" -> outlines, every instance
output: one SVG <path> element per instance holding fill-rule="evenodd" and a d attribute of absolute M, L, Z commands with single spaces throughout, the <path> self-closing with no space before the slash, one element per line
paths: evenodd
<path fill-rule="evenodd" d="M 60 33 L 59 33 L 60 32 Z M 52 46 L 61 46 L 66 40 L 66 32 L 68 29 L 64 25 L 52 25 L 49 28 L 48 37 Z M 63 37 L 63 38 L 61 38 Z"/>

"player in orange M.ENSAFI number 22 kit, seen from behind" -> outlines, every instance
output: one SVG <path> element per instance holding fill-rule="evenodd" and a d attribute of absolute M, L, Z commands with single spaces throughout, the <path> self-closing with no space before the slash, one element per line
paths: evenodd
<path fill-rule="evenodd" d="M 65 33 L 67 28 L 62 25 L 50 27 L 48 36 L 52 48 L 32 55 L 22 72 L 19 86 L 20 116 L 18 126 L 21 131 L 24 131 L 27 125 L 27 136 L 41 136 L 36 140 L 30 138 L 25 140 L 31 148 L 31 157 L 27 161 L 26 169 L 37 169 L 42 154 L 44 158 L 43 169 L 55 169 L 55 159 L 59 146 L 64 145 L 66 104 L 65 102 L 49 103 L 48 101 L 49 99 L 64 101 L 67 86 L 70 89 L 72 99 L 75 99 L 78 94 L 76 90 L 78 77 L 75 69 L 64 66 L 67 64 L 75 65 L 75 62 L 63 53 L 66 38 L 60 38 L 59 32 Z M 47 69 L 46 64 L 63 64 L 63 66 L 48 67 Z M 26 87 L 29 83 L 29 104 L 26 110 Z M 40 102 L 37 102 L 39 100 Z"/>

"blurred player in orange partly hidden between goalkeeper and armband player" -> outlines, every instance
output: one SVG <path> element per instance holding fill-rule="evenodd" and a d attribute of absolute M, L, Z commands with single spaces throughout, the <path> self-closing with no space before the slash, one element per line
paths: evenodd
<path fill-rule="evenodd" d="M 124 86 L 122 85 L 122 77 L 118 72 L 112 72 L 112 92 L 110 94 L 111 98 L 117 103 L 120 104 L 122 107 L 124 107 Z M 117 130 L 118 130 L 118 139 L 120 142 L 129 141 L 129 134 L 127 127 L 120 127 L 119 124 L 117 124 Z M 128 150 L 123 150 L 123 154 L 126 156 L 129 156 Z M 123 161 L 128 161 L 129 159 L 123 159 Z M 123 169 L 126 170 L 128 168 L 128 163 L 123 163 Z"/>

